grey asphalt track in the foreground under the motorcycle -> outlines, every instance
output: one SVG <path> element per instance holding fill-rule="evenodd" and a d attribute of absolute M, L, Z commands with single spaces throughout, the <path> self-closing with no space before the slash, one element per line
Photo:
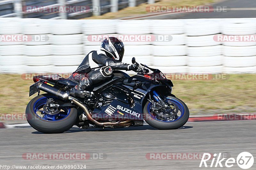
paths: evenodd
<path fill-rule="evenodd" d="M 256 160 L 255 120 L 188 122 L 181 129 L 142 127 L 121 129 L 72 128 L 62 134 L 42 134 L 33 128 L 0 129 L 0 165 L 81 165 L 86 169 L 241 169 L 199 168 L 197 160 L 148 160 L 147 153 L 250 152 Z M 104 153 L 104 159 L 26 160 L 23 153 Z M 208 164 L 210 165 L 210 163 Z M 250 169 L 256 169 L 256 163 Z"/>

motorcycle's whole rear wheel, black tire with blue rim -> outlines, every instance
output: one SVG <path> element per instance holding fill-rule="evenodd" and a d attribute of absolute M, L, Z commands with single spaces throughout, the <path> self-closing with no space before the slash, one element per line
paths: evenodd
<path fill-rule="evenodd" d="M 54 104 L 63 102 L 51 94 L 42 94 L 32 99 L 26 108 L 28 123 L 42 133 L 62 133 L 75 125 L 76 108 L 51 109 L 45 108 L 47 100 L 54 100 Z"/>

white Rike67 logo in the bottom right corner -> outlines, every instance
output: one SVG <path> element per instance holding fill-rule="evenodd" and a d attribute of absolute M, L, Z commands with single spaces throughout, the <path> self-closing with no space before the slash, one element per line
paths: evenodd
<path fill-rule="evenodd" d="M 214 153 L 213 158 L 211 158 L 211 156 L 212 156 L 212 154 L 210 154 L 210 153 L 204 153 L 199 167 L 202 167 L 202 166 L 208 167 L 209 163 L 211 163 L 209 167 L 223 167 L 222 164 L 224 164 L 226 167 L 230 168 L 230 167 L 233 167 L 234 164 L 237 164 L 242 169 L 248 169 L 248 168 L 252 167 L 252 165 L 254 163 L 253 156 L 249 152 L 240 153 L 236 157 L 236 159 L 235 158 L 228 158 L 228 159 L 222 158 L 221 159 L 221 153 L 219 153 L 219 155 L 217 155 L 217 153 Z M 208 160 L 210 160 L 210 161 L 208 161 Z M 216 162 L 215 162 L 215 160 L 216 160 Z M 208 165 L 207 165 L 206 161 L 208 161 Z"/>

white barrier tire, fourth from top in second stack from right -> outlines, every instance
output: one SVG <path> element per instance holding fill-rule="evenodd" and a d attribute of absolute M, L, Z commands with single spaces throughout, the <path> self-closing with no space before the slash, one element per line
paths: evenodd
<path fill-rule="evenodd" d="M 202 66 L 216 66 L 222 65 L 223 56 L 205 56 L 205 57 L 188 57 L 188 66 L 202 67 Z"/>

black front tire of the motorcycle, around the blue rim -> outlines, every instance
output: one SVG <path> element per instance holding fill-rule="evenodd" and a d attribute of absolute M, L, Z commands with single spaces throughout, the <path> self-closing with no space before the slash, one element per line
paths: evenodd
<path fill-rule="evenodd" d="M 189 118 L 189 110 L 187 105 L 181 101 L 180 99 L 168 96 L 168 101 L 174 102 L 178 107 L 180 111 L 180 117 L 176 117 L 173 121 L 163 121 L 158 120 L 156 117 L 151 115 L 151 103 L 148 101 L 143 109 L 143 117 L 144 120 L 152 127 L 156 129 L 178 129 L 182 127 L 186 122 L 188 122 Z"/>

